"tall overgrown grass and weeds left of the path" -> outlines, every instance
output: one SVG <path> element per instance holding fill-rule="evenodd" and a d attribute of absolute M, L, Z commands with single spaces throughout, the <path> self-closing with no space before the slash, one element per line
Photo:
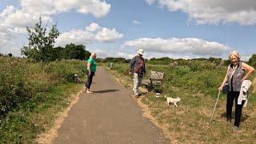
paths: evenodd
<path fill-rule="evenodd" d="M 38 114 L 64 106 L 68 94 L 82 87 L 74 83 L 74 74 L 83 76 L 85 69 L 85 62 L 78 60 L 42 63 L 0 57 L 0 143 L 33 142 L 50 124 L 50 113 L 46 119 Z"/>

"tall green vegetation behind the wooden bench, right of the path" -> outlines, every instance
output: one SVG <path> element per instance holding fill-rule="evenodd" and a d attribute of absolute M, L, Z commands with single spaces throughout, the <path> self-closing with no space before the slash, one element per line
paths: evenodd
<path fill-rule="evenodd" d="M 218 94 L 218 86 L 222 84 L 226 69 L 227 66 L 218 66 L 213 62 L 199 60 L 182 62 L 182 65 L 171 63 L 169 65 L 146 64 L 147 76 L 149 76 L 150 70 L 165 73 L 162 86 L 165 93 L 169 93 L 170 86 L 175 86 L 190 90 L 191 93 L 206 94 L 212 98 Z M 116 70 L 118 73 L 127 76 L 129 64 L 114 63 L 111 70 Z M 250 80 L 253 80 L 253 78 L 250 78 Z"/>

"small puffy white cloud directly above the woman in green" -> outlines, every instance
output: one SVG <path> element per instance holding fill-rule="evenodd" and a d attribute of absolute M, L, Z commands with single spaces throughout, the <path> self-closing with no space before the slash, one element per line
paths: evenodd
<path fill-rule="evenodd" d="M 99 42 L 114 42 L 115 39 L 122 38 L 123 34 L 118 33 L 115 29 L 102 28 L 96 35 Z"/>

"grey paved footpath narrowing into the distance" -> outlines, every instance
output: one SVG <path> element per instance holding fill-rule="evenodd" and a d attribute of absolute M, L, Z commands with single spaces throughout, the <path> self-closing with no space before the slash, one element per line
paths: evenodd
<path fill-rule="evenodd" d="M 82 94 L 58 129 L 53 143 L 170 143 L 162 130 L 142 116 L 130 91 L 98 67 L 91 90 Z"/>

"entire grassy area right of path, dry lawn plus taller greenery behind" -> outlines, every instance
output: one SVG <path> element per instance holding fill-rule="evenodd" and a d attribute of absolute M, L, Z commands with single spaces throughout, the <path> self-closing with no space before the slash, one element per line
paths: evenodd
<path fill-rule="evenodd" d="M 198 62 L 198 66 L 174 66 L 174 65 L 148 65 L 147 71 L 156 70 L 165 72 L 162 97 L 154 97 L 154 93 L 148 93 L 141 98 L 142 103 L 150 110 L 150 114 L 165 127 L 170 139 L 182 143 L 254 143 L 256 138 L 256 94 L 254 79 L 250 89 L 248 106 L 243 108 L 242 122 L 238 132 L 232 130 L 232 122 L 226 122 L 226 95 L 221 94 L 214 114 L 213 122 L 210 116 L 218 96 L 218 86 L 225 74 L 226 66 L 200 67 L 206 62 Z M 192 68 L 193 69 L 192 69 Z M 198 67 L 199 70 L 194 69 Z M 118 78 L 126 78 L 125 85 L 132 87 L 132 81 L 126 74 L 127 64 L 114 64 L 112 74 L 118 73 Z M 122 76 L 120 76 L 122 74 Z M 182 98 L 178 107 L 166 105 L 166 98 Z M 233 107 L 234 111 L 234 107 Z"/>

